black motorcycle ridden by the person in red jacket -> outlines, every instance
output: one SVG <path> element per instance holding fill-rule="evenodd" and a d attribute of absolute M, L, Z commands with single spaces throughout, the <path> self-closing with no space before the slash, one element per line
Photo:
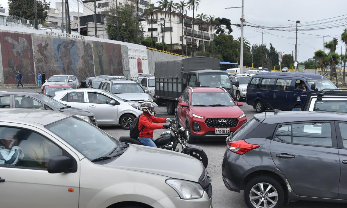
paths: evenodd
<path fill-rule="evenodd" d="M 178 152 L 179 150 L 176 147 L 179 143 L 182 146 L 181 153 L 191 155 L 192 157 L 200 160 L 205 168 L 207 168 L 209 160 L 204 150 L 200 146 L 188 146 L 186 141 L 189 134 L 188 131 L 186 131 L 184 127 L 179 128 L 174 120 L 170 121 L 170 124 L 171 126 L 169 127 L 168 131 L 161 133 L 160 136 L 154 140 L 154 144 L 158 148 Z M 130 138 L 130 136 L 121 136 L 119 141 L 130 144 L 144 145 L 138 141 L 137 138 Z"/>

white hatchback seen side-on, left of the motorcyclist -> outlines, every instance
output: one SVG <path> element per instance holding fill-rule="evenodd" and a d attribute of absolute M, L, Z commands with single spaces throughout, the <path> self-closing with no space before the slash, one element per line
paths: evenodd
<path fill-rule="evenodd" d="M 92 112 L 98 125 L 120 125 L 123 129 L 130 129 L 135 117 L 142 113 L 138 103 L 124 100 L 101 89 L 59 91 L 53 99 Z"/>

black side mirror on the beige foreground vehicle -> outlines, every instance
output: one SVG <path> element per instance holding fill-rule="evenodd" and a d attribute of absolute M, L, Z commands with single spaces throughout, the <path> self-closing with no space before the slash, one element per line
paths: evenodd
<path fill-rule="evenodd" d="M 49 173 L 65 173 L 69 172 L 71 165 L 71 158 L 58 155 L 49 159 L 47 171 Z"/>

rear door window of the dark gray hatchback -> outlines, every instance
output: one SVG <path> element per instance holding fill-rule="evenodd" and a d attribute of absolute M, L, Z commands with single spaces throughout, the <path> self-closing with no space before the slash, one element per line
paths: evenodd
<path fill-rule="evenodd" d="M 330 122 L 293 124 L 293 143 L 331 146 Z"/>

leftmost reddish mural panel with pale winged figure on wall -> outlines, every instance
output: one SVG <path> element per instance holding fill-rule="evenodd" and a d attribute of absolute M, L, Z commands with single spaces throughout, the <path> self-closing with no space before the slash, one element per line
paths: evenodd
<path fill-rule="evenodd" d="M 17 71 L 23 84 L 35 83 L 31 35 L 0 32 L 4 84 L 16 84 Z"/>

